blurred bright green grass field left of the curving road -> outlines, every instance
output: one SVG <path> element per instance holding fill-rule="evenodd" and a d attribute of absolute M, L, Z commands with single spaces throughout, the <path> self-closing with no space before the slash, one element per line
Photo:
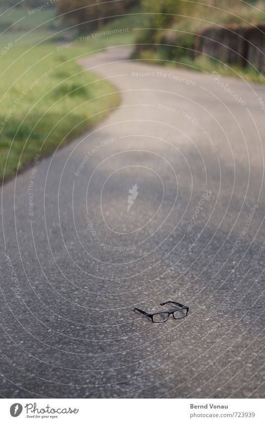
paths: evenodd
<path fill-rule="evenodd" d="M 14 22 L 22 12 L 27 14 L 23 9 L 4 18 Z M 82 41 L 75 29 L 64 30 L 55 19 L 51 29 L 46 21 L 54 16 L 53 9 L 39 12 L 38 20 L 27 15 L 17 30 L 14 26 L 0 35 L 0 176 L 4 179 L 25 167 L 36 153 L 43 157 L 88 130 L 119 104 L 116 89 L 84 71 L 77 60 L 108 45 L 133 43 L 134 32 L 100 34 Z M 102 31 L 129 27 L 132 19 L 121 17 Z M 34 28 L 36 24 L 40 26 Z M 75 46 L 58 51 L 74 39 L 78 39 Z"/>

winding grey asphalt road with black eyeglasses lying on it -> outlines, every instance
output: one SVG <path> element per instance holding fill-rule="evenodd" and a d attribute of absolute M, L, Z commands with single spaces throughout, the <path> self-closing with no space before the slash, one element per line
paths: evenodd
<path fill-rule="evenodd" d="M 120 107 L 3 187 L 1 396 L 260 398 L 265 86 L 127 58 L 82 59 Z"/>

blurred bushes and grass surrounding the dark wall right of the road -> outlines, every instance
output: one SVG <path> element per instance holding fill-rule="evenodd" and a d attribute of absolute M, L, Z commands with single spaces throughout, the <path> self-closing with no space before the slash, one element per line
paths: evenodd
<path fill-rule="evenodd" d="M 142 0 L 141 4 L 149 22 L 139 31 L 134 59 L 265 82 L 252 66 L 227 65 L 195 52 L 196 35 L 203 29 L 265 23 L 264 0 Z"/>

